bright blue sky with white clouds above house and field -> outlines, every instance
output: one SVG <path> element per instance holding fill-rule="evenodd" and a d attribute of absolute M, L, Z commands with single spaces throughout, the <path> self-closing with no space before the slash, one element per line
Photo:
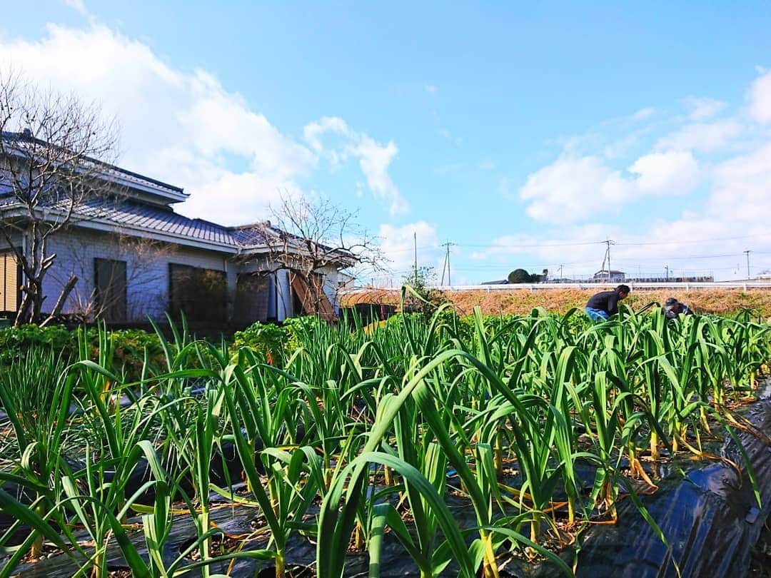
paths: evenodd
<path fill-rule="evenodd" d="M 0 65 L 122 126 L 180 212 L 359 211 L 398 281 L 771 269 L 771 5 L 89 2 L 5 8 Z M 369 281 L 365 274 L 362 281 Z"/>

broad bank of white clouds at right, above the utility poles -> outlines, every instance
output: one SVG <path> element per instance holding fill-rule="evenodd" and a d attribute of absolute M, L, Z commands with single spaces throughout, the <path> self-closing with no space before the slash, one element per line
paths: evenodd
<path fill-rule="evenodd" d="M 541 232 L 500 237 L 473 257 L 504 269 L 517 263 L 550 270 L 564 264 L 566 276 L 588 274 L 600 266 L 601 240 L 610 238 L 618 241 L 611 247 L 614 268 L 628 274 L 663 276 L 668 267 L 678 275 L 746 277 L 743 251 L 748 249 L 759 261 L 752 261 L 753 273 L 767 267 L 771 140 L 762 123 L 771 123 L 771 72 L 760 71 L 747 102 L 743 114 L 719 117 L 725 102 L 689 97 L 683 101 L 687 117 L 657 113 L 655 121 L 642 123 L 654 115 L 639 111 L 622 119 L 641 122 L 626 136 L 628 125 L 609 119 L 583 135 L 562 139 L 561 156 L 531 173 L 518 191 L 527 215 L 544 223 Z M 641 138 L 633 139 L 632 146 L 617 146 L 633 136 Z M 640 154 L 651 139 L 653 146 Z M 621 152 L 610 154 L 609 148 Z M 636 158 L 629 160 L 635 151 Z M 709 162 L 702 158 L 706 154 Z M 501 181 L 502 192 L 510 188 Z M 683 209 L 638 202 L 687 193 L 693 193 L 692 202 Z M 630 219 L 620 209 L 632 202 L 639 213 Z M 626 217 L 626 227 L 614 224 L 619 214 Z"/>

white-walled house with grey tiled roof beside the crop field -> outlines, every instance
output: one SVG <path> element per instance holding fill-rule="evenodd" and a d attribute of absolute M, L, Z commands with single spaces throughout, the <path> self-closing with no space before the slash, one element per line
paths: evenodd
<path fill-rule="evenodd" d="M 52 310 L 62 288 L 76 276 L 62 314 L 134 322 L 163 320 L 167 312 L 174 316 L 183 311 L 194 321 L 246 325 L 314 312 L 307 282 L 271 257 L 268 237 L 282 232 L 270 223 L 224 227 L 183 217 L 173 209 L 188 197 L 180 187 L 112 165 L 102 168 L 100 177 L 120 194 L 80 203 L 69 227 L 49 238 L 47 253 L 55 253 L 56 259 L 44 278 L 43 311 Z M 13 220 L 15 198 L 3 179 L 7 173 L 0 173 L 0 222 L 26 255 L 29 223 L 22 211 Z M 24 279 L 5 238 L 0 236 L 0 311 L 13 314 Z M 342 270 L 354 262 L 351 254 L 340 251 L 334 264 L 314 271 L 323 288 L 318 304 L 322 317 L 335 317 L 338 286 L 347 278 Z"/>

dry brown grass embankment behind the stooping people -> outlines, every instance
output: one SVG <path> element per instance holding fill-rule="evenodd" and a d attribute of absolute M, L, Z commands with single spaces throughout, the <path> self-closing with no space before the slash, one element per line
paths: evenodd
<path fill-rule="evenodd" d="M 477 305 L 484 314 L 529 314 L 534 307 L 564 313 L 571 307 L 583 308 L 589 297 L 598 290 L 581 289 L 527 289 L 512 291 L 446 291 L 444 296 L 453 301 L 460 314 L 470 314 Z M 667 297 L 676 297 L 697 313 L 730 314 L 742 309 L 755 309 L 763 317 L 771 317 L 771 287 L 769 289 L 698 289 L 692 291 L 652 290 L 632 291 L 625 304 L 638 309 L 651 301 L 664 303 Z"/>

